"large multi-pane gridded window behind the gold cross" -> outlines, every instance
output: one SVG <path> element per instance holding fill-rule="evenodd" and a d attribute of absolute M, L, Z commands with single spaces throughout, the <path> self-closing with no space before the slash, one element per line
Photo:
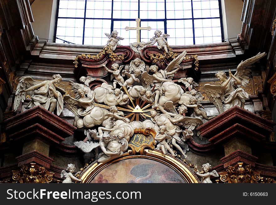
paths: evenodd
<path fill-rule="evenodd" d="M 219 43 L 222 38 L 220 0 L 59 0 L 56 42 L 106 45 L 117 30 L 121 45 L 136 42 L 136 18 L 141 19 L 140 41 L 159 29 L 169 34 L 169 45 Z M 62 40 L 61 40 L 62 39 Z"/>

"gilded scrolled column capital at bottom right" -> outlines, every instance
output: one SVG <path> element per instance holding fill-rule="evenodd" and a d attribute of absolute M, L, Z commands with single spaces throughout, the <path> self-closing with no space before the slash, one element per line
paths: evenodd
<path fill-rule="evenodd" d="M 260 171 L 254 171 L 251 165 L 242 162 L 235 166 L 228 166 L 226 171 L 219 172 L 219 183 L 275 183 L 274 180 L 264 179 Z M 270 181 L 270 182 L 269 182 Z"/>

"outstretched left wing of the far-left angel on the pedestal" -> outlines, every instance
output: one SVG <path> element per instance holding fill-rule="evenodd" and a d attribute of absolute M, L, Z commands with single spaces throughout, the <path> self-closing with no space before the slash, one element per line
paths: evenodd
<path fill-rule="evenodd" d="M 19 78 L 19 83 L 16 87 L 16 91 L 15 91 L 15 97 L 14 97 L 14 103 L 13 103 L 13 110 L 17 110 L 20 101 L 23 103 L 24 100 L 26 99 L 26 94 L 27 95 L 34 95 L 34 90 L 31 91 L 27 91 L 27 92 L 21 92 L 22 90 L 26 90 L 31 86 L 34 86 L 38 83 L 40 83 L 41 81 L 36 81 L 34 80 L 31 76 L 22 76 L 21 78 Z"/>

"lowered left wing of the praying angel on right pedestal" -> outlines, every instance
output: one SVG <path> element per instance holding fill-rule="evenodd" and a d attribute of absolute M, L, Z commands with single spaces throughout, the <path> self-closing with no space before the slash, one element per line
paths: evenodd
<path fill-rule="evenodd" d="M 224 97 L 223 97 L 223 91 L 220 88 L 220 86 L 205 84 L 203 89 L 207 97 L 209 97 L 210 103 L 213 103 L 215 105 L 215 107 L 219 111 L 219 114 L 223 113 L 224 108 L 223 108 L 222 101 L 224 100 Z"/>

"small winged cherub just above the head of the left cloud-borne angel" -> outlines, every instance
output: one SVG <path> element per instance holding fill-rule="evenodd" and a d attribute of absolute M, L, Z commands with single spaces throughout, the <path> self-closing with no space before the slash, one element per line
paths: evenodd
<path fill-rule="evenodd" d="M 80 96 L 77 93 L 77 91 L 78 91 L 78 89 L 82 88 L 82 89 L 85 90 L 85 95 L 88 98 L 92 99 L 93 91 L 90 89 L 89 84 L 90 84 L 90 82 L 92 82 L 94 80 L 96 80 L 96 78 L 93 78 L 93 77 L 90 77 L 90 76 L 87 76 L 87 77 L 81 76 L 80 77 L 80 82 L 82 82 L 83 84 L 80 84 L 80 83 L 77 83 L 77 82 L 73 82 L 73 81 L 69 81 L 69 84 L 71 85 L 72 90 L 73 90 L 73 92 L 74 92 L 74 94 L 76 96 L 75 98 L 76 99 L 80 98 Z"/>

